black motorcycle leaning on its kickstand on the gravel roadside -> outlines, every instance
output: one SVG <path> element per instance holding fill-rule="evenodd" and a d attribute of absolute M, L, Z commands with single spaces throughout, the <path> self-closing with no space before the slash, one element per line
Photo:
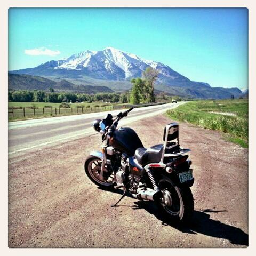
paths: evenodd
<path fill-rule="evenodd" d="M 179 125 L 166 125 L 164 143 L 144 148 L 134 130 L 117 128 L 120 119 L 132 109 L 93 122 L 105 145 L 86 158 L 85 172 L 99 187 L 124 190 L 119 201 L 111 206 L 130 193 L 139 200 L 157 202 L 163 213 L 174 220 L 187 221 L 194 211 L 190 190 L 194 177 L 187 155 L 190 150 L 179 145 Z"/>

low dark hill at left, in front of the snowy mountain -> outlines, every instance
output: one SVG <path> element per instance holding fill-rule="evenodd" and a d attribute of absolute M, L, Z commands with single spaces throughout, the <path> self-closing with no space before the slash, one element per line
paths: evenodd
<path fill-rule="evenodd" d="M 53 88 L 58 92 L 82 92 L 87 94 L 94 94 L 100 92 L 113 92 L 106 86 L 92 86 L 83 84 L 73 84 L 67 80 L 53 81 L 52 79 L 31 76 L 31 75 L 18 75 L 8 74 L 9 90 L 43 90 L 48 91 Z"/>

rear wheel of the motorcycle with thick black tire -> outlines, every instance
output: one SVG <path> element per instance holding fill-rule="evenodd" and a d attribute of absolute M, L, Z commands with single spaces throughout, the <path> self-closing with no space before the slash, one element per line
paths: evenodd
<path fill-rule="evenodd" d="M 161 190 L 169 191 L 170 194 L 167 195 L 171 195 L 171 206 L 160 203 L 165 217 L 175 222 L 187 223 L 194 212 L 194 198 L 190 188 L 178 187 L 165 175 L 159 179 L 158 186 Z"/>

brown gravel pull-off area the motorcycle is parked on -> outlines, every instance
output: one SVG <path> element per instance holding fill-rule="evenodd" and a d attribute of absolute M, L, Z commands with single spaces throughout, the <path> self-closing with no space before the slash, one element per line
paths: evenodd
<path fill-rule="evenodd" d="M 129 127 L 148 147 L 162 143 L 167 123 L 157 116 Z M 169 225 L 154 202 L 126 197 L 110 207 L 121 195 L 84 173 L 84 159 L 101 145 L 93 135 L 10 159 L 9 247 L 245 247 L 247 149 L 190 124 L 180 124 L 180 143 L 192 150 L 195 176 L 189 228 Z"/>

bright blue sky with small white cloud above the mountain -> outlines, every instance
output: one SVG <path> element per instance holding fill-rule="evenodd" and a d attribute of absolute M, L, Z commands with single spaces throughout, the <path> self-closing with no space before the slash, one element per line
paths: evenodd
<path fill-rule="evenodd" d="M 193 81 L 243 88 L 248 73 L 247 19 L 245 8 L 12 8 L 9 70 L 112 46 L 169 65 Z"/>

